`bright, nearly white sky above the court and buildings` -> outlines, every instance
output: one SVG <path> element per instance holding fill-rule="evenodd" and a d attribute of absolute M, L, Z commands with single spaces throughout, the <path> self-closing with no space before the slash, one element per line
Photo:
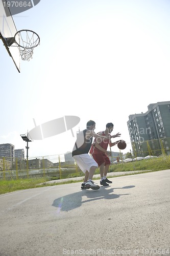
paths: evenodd
<path fill-rule="evenodd" d="M 76 132 L 88 120 L 95 132 L 113 122 L 112 134 L 131 148 L 127 121 L 150 103 L 169 100 L 169 0 L 41 0 L 14 15 L 17 30 L 40 36 L 33 59 L 21 60 L 21 73 L 0 41 L 0 144 L 24 148 L 36 124 L 74 115 L 71 131 L 29 143 L 29 157 L 72 151 Z M 113 139 L 112 141 L 115 141 Z M 117 146 L 112 151 L 118 152 Z"/>

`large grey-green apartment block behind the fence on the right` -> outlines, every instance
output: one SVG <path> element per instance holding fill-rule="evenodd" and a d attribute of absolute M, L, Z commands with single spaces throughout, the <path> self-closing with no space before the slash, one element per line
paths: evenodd
<path fill-rule="evenodd" d="M 152 103 L 127 122 L 135 156 L 170 154 L 170 101 Z"/>

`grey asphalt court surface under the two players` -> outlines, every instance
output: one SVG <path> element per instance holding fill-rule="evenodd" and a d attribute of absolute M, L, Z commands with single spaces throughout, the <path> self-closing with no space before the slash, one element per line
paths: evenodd
<path fill-rule="evenodd" d="M 0 255 L 168 255 L 170 170 L 110 179 L 0 195 Z"/>

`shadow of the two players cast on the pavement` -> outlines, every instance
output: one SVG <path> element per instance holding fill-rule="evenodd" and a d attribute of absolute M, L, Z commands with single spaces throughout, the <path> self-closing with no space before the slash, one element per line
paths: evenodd
<path fill-rule="evenodd" d="M 129 194 L 113 194 L 114 189 L 122 189 L 122 188 L 133 188 L 135 186 L 125 186 L 125 187 L 117 187 L 112 188 L 102 186 L 99 190 L 91 190 L 91 189 L 83 189 L 79 192 L 69 194 L 54 200 L 52 206 L 58 208 L 58 212 L 60 211 L 69 211 L 72 209 L 76 209 L 80 207 L 83 203 L 101 200 L 101 199 L 109 199 L 113 200 L 120 196 L 127 196 Z M 82 201 L 82 197 L 87 197 L 87 200 Z"/>

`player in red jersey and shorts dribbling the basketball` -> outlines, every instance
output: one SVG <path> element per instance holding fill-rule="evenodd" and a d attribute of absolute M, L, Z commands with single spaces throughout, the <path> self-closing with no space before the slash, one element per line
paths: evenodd
<path fill-rule="evenodd" d="M 108 136 L 113 131 L 113 123 L 107 123 L 106 124 L 106 130 L 103 132 L 99 132 L 98 134 L 100 136 Z M 112 136 L 113 138 L 120 137 L 120 133 L 117 133 L 116 135 Z M 111 135 L 110 135 L 111 136 Z M 107 147 L 108 145 L 114 146 L 119 142 L 117 140 L 116 142 L 111 142 L 110 139 L 104 139 L 103 141 L 99 139 L 95 139 L 94 143 L 92 144 L 90 148 L 90 154 L 94 158 L 95 162 L 98 163 L 100 167 L 100 174 L 101 174 L 101 185 L 108 186 L 108 183 L 112 183 L 112 181 L 107 179 L 107 173 L 110 166 L 110 159 L 108 157 Z"/>

